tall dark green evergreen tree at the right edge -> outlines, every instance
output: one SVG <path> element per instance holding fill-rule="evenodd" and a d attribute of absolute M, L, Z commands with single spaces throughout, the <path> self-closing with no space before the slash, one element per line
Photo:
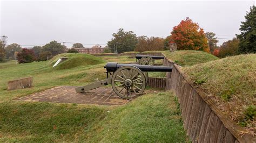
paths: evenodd
<path fill-rule="evenodd" d="M 256 7 L 251 6 L 250 12 L 246 13 L 245 22 L 241 22 L 237 35 L 240 40 L 239 53 L 256 53 Z"/>

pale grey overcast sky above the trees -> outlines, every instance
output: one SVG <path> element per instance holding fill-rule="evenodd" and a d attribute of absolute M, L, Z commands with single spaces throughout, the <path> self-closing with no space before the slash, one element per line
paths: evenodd
<path fill-rule="evenodd" d="M 105 46 L 118 28 L 138 36 L 165 38 L 190 17 L 218 38 L 240 33 L 253 1 L 3 1 L 0 35 L 8 44 L 40 45 L 49 41 Z M 219 39 L 220 45 L 225 39 Z M 70 47 L 71 45 L 68 45 Z M 29 47 L 29 46 L 24 46 Z"/>

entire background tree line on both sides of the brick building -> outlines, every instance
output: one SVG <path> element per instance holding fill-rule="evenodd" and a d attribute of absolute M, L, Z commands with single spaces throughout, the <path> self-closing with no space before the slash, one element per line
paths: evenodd
<path fill-rule="evenodd" d="M 236 38 L 224 42 L 217 46 L 218 40 L 213 32 L 204 32 L 199 24 L 190 18 L 172 28 L 172 32 L 166 38 L 137 36 L 133 31 L 125 31 L 119 28 L 117 33 L 113 33 L 113 38 L 107 42 L 104 52 L 144 52 L 144 51 L 164 51 L 169 49 L 170 44 L 175 43 L 178 50 L 199 50 L 212 53 L 215 56 L 224 58 L 245 53 L 256 53 L 256 8 L 251 6 L 250 12 L 246 13 L 245 22 L 241 22 Z M 22 48 L 18 44 L 6 45 L 7 37 L 2 36 L 0 40 L 0 62 L 5 59 L 17 59 L 20 63 L 32 61 L 45 61 L 52 56 L 63 53 L 66 47 L 60 42 L 51 41 L 44 46 L 35 46 L 32 49 Z M 73 44 L 68 53 L 77 53 L 75 48 L 84 48 L 83 44 Z"/>

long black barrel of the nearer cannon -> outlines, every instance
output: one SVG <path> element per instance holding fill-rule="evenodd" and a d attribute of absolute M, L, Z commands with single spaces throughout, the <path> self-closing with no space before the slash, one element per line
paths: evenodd
<path fill-rule="evenodd" d="M 122 66 L 134 66 L 139 68 L 142 71 L 161 71 L 161 72 L 172 71 L 172 67 L 166 67 L 166 66 L 146 66 L 146 65 L 138 65 L 138 64 L 117 63 L 117 62 L 108 62 L 106 66 L 104 66 L 104 68 L 106 68 L 107 72 L 114 72 Z"/>

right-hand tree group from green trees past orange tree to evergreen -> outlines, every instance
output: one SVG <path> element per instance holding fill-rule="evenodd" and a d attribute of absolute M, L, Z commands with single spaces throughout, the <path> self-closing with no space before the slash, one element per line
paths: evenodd
<path fill-rule="evenodd" d="M 235 38 L 224 42 L 219 47 L 215 33 L 205 33 L 199 24 L 186 18 L 174 26 L 166 38 L 147 37 L 145 35 L 137 37 L 133 31 L 124 31 L 123 28 L 119 28 L 117 33 L 112 34 L 113 38 L 107 42 L 107 46 L 111 49 L 107 52 L 163 51 L 169 49 L 170 44 L 175 43 L 178 50 L 205 51 L 220 58 L 256 53 L 256 8 L 254 5 L 251 6 L 250 12 L 246 13 L 245 19 L 239 28 L 241 34 L 237 34 Z"/>

